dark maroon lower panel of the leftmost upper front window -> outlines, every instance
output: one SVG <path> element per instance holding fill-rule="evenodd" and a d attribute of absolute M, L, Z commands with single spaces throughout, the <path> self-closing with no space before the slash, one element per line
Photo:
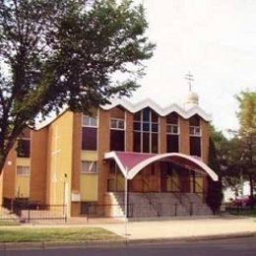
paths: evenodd
<path fill-rule="evenodd" d="M 96 128 L 83 127 L 82 150 L 96 151 Z"/>

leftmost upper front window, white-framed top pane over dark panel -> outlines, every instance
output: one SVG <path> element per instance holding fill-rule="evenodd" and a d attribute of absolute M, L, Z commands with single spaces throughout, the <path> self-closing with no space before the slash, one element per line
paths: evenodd
<path fill-rule="evenodd" d="M 97 117 L 83 116 L 82 150 L 96 151 L 97 145 Z"/>

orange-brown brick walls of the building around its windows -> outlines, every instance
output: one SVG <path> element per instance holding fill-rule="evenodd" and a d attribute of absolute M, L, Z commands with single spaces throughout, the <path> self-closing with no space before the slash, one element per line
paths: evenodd
<path fill-rule="evenodd" d="M 142 109 L 141 109 L 142 110 Z M 62 113 L 62 117 L 69 114 L 69 111 L 65 111 Z M 208 154 L 209 154 L 209 122 L 200 116 L 200 143 L 201 143 L 201 159 L 204 162 L 208 162 Z M 109 162 L 104 160 L 105 153 L 110 151 L 110 121 L 111 116 L 115 118 L 124 119 L 125 129 L 124 129 L 124 151 L 125 152 L 133 152 L 134 149 L 134 113 L 125 107 L 113 106 L 110 109 L 98 108 L 97 110 L 97 149 L 95 152 L 86 152 L 82 149 L 82 137 L 83 137 L 83 127 L 82 127 L 82 118 L 83 115 L 81 113 L 72 113 L 71 117 L 67 119 L 67 123 L 64 125 L 72 126 L 71 129 L 71 140 L 72 145 L 70 145 L 70 158 L 71 158 L 71 177 L 62 177 L 59 182 L 68 183 L 68 200 L 70 201 L 70 216 L 80 216 L 81 214 L 81 199 L 82 195 L 82 156 L 84 156 L 87 160 L 87 156 L 96 156 L 97 163 L 97 173 L 94 176 L 91 176 L 94 180 L 96 179 L 96 200 L 94 202 L 97 204 L 104 204 L 105 193 L 107 192 L 108 185 L 108 175 L 109 175 Z M 61 118 L 62 118 L 61 117 Z M 54 195 L 52 190 L 54 189 L 54 175 L 53 169 L 56 167 L 56 164 L 59 164 L 57 159 L 54 160 L 53 154 L 55 151 L 61 151 L 62 149 L 55 148 L 54 140 L 58 139 L 56 137 L 56 131 L 54 130 L 54 125 L 56 119 L 52 120 L 49 124 L 42 127 L 38 130 L 32 131 L 32 140 L 31 140 L 31 156 L 30 156 L 30 200 L 39 202 L 40 204 L 47 204 L 49 202 L 53 202 L 50 197 Z M 72 120 L 72 121 L 70 121 Z M 164 154 L 167 151 L 167 142 L 166 142 L 166 116 L 160 115 L 158 118 L 159 124 L 159 132 L 158 132 L 158 144 L 159 154 Z M 189 118 L 184 118 L 178 115 L 178 141 L 179 141 L 179 153 L 190 155 L 190 124 Z M 61 134 L 60 138 L 65 140 L 67 136 L 66 133 Z M 55 135 L 54 135 L 55 134 Z M 55 138 L 55 137 L 56 138 Z M 54 139 L 55 138 L 55 139 Z M 56 145 L 58 143 L 56 142 Z M 57 146 L 56 146 L 57 147 Z M 17 153 L 16 150 L 13 149 L 9 157 L 7 159 L 7 163 L 4 167 L 3 172 L 3 198 L 11 198 L 14 199 L 16 197 L 16 160 Z M 160 162 L 156 162 L 154 165 L 154 170 L 152 166 L 147 166 L 143 169 L 139 174 L 137 174 L 132 181 L 129 182 L 129 188 L 133 191 L 155 191 L 160 192 Z M 56 171 L 60 171 L 58 169 L 58 165 L 56 167 Z M 151 175 L 151 173 L 154 173 Z M 85 179 L 86 174 L 83 176 Z M 148 185 L 143 185 L 143 180 L 148 182 Z M 69 184 L 70 182 L 70 184 Z M 144 186 L 144 187 L 143 187 Z M 204 186 L 207 187 L 206 178 L 204 180 Z M 84 190 L 86 191 L 86 187 Z M 95 189 L 95 188 L 94 188 Z M 65 191 L 63 193 L 66 193 Z M 74 199 L 75 195 L 78 198 Z M 87 195 L 86 195 L 87 196 Z M 91 196 L 91 195 L 89 195 Z M 93 198 L 93 196 L 92 196 Z M 63 199 L 64 200 L 64 199 Z M 86 201 L 85 201 L 86 202 Z M 60 200 L 60 203 L 61 202 Z"/>

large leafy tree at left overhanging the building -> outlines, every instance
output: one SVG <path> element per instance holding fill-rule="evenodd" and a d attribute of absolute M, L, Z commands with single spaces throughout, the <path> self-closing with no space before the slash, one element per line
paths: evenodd
<path fill-rule="evenodd" d="M 155 46 L 147 27 L 130 0 L 0 0 L 0 173 L 38 114 L 130 96 Z"/>

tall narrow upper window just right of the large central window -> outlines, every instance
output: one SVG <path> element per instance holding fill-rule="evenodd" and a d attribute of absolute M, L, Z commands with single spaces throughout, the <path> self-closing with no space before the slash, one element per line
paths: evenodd
<path fill-rule="evenodd" d="M 179 152 L 178 115 L 172 112 L 166 116 L 166 144 L 167 152 Z"/>

